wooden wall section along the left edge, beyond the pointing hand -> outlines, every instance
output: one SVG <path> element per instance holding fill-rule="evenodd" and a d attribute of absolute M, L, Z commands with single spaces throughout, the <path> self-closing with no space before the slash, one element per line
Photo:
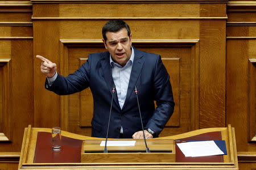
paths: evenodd
<path fill-rule="evenodd" d="M 31 15 L 31 2 L 0 1 L 0 169 L 18 168 L 24 128 L 34 125 Z"/>

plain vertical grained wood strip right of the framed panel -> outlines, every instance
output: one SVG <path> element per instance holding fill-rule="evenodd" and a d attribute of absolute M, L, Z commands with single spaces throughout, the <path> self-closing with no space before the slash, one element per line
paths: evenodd
<path fill-rule="evenodd" d="M 225 126 L 225 24 L 200 22 L 200 128 Z"/>

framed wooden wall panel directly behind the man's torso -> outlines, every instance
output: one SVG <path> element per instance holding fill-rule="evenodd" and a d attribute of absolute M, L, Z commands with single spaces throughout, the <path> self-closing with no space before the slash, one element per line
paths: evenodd
<path fill-rule="evenodd" d="M 195 77 L 199 77 L 199 75 L 193 75 L 196 71 L 191 70 L 197 69 L 196 63 L 197 65 L 199 63 L 199 57 L 194 56 L 196 53 L 193 52 L 196 48 L 192 48 L 196 46 L 198 40 L 133 40 L 133 42 L 134 46 L 141 50 L 160 54 L 164 65 L 167 67 L 168 73 L 171 75 L 170 80 L 175 94 L 176 107 L 171 120 L 167 124 L 167 127 L 170 128 L 166 128 L 167 130 L 161 135 L 188 131 L 192 126 L 190 123 L 193 122 L 192 117 L 199 117 L 193 116 L 197 113 L 193 112 L 193 106 L 191 105 L 192 99 L 198 97 L 190 95 L 193 94 L 191 84 L 199 81 L 195 79 Z M 66 56 L 61 60 L 64 60 L 62 61 L 63 63 L 68 63 L 68 66 L 61 68 L 60 74 L 65 73 L 65 75 L 77 70 L 81 64 L 86 61 L 85 57 L 87 57 L 89 53 L 105 51 L 101 40 L 61 40 L 61 44 L 64 45 L 64 48 L 61 48 L 63 49 L 61 54 L 62 56 Z M 66 48 L 67 50 L 65 50 Z M 196 60 L 196 58 L 197 61 L 195 63 L 192 62 Z M 199 91 L 194 92 L 194 94 L 199 95 Z M 61 116 L 64 118 L 64 120 L 61 121 L 68 122 L 65 128 L 75 133 L 90 135 L 90 121 L 92 120 L 93 113 L 93 101 L 90 90 L 86 89 L 80 92 L 80 94 L 64 96 L 64 98 L 66 98 L 64 100 L 67 101 L 61 103 L 61 108 L 67 108 L 67 113 L 65 113 L 65 111 L 61 112 L 61 115 L 66 115 Z M 79 123 L 77 124 L 75 122 Z M 177 127 L 178 129 L 171 131 L 171 127 Z"/>

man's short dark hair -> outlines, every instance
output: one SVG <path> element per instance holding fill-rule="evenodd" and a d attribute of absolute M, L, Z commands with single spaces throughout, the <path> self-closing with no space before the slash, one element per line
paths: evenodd
<path fill-rule="evenodd" d="M 128 36 L 130 38 L 131 31 L 130 31 L 129 25 L 126 22 L 124 22 L 123 20 L 119 20 L 119 19 L 110 20 L 102 28 L 103 39 L 105 41 L 107 40 L 106 32 L 118 32 L 118 31 L 120 31 L 123 28 L 126 28 L 127 34 L 128 34 Z"/>

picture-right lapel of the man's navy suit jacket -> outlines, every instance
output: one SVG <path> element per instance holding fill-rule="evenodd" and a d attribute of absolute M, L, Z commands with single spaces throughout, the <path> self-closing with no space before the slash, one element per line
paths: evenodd
<path fill-rule="evenodd" d="M 141 54 L 139 50 L 134 48 L 134 62 L 133 62 L 133 67 L 131 69 L 131 75 L 130 75 L 125 103 L 123 104 L 122 109 L 126 107 L 131 94 L 133 94 L 134 92 L 134 86 L 137 83 L 139 76 L 141 75 L 143 64 L 144 64 L 143 54 Z"/>

